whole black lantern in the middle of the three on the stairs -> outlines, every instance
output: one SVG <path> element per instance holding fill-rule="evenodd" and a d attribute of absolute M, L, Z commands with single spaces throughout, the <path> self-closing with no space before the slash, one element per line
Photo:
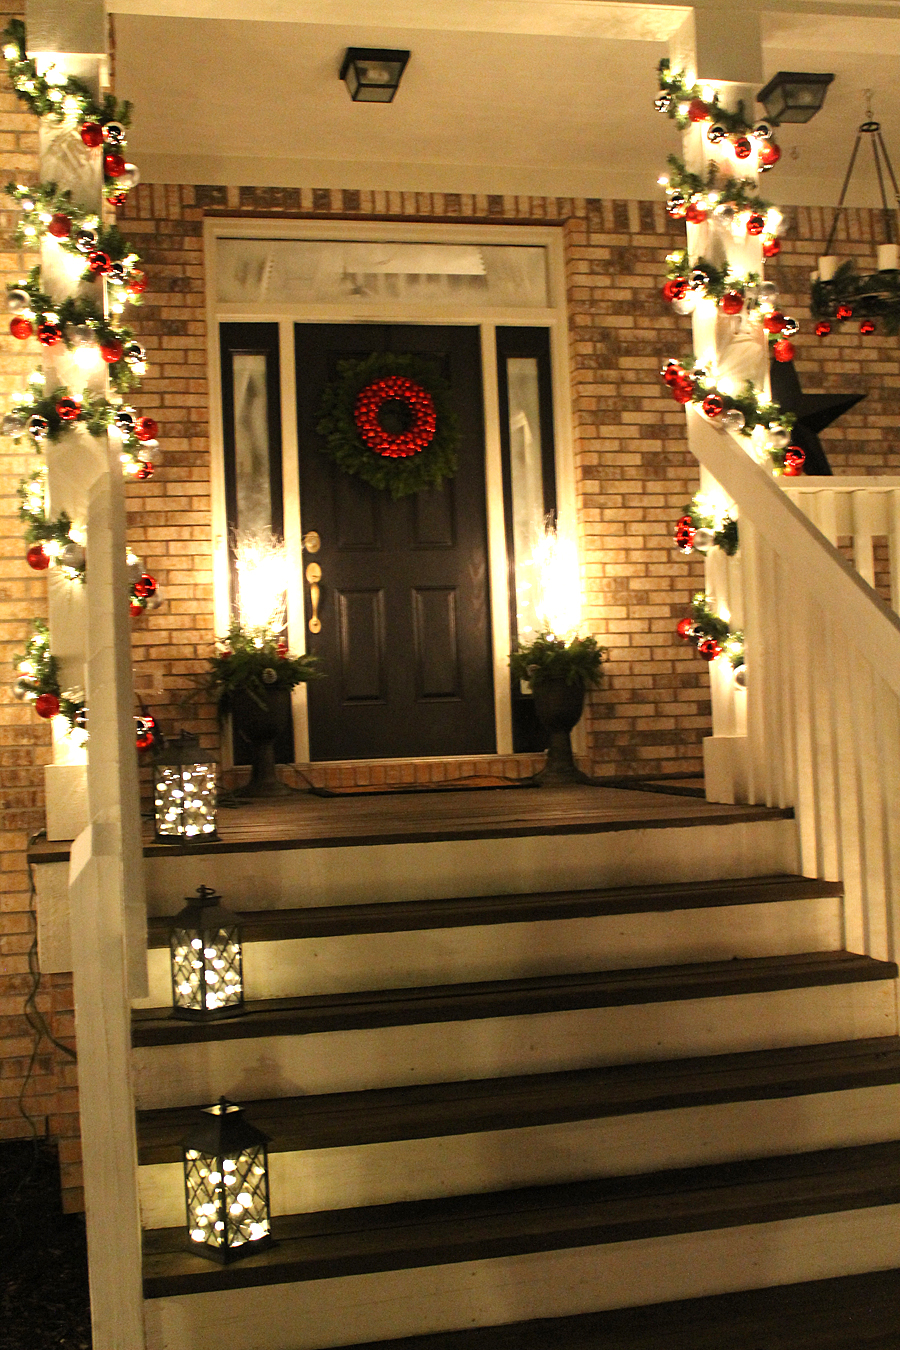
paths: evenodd
<path fill-rule="evenodd" d="M 198 886 L 171 921 L 171 998 L 175 1017 L 209 1021 L 235 1017 L 244 1006 L 237 915 Z"/>

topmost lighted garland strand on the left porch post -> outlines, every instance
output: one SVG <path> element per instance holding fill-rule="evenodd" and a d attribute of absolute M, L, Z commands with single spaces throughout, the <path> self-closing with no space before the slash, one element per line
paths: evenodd
<path fill-rule="evenodd" d="M 12 88 L 35 116 L 49 117 L 57 124 L 72 119 L 78 123 L 85 146 L 92 150 L 105 146 L 103 169 L 107 200 L 116 207 L 123 205 L 128 192 L 139 181 L 138 170 L 125 163 L 120 153 L 131 122 L 131 104 L 117 103 L 112 94 L 105 94 L 97 103 L 88 85 L 74 76 L 57 82 L 47 78 L 47 74 L 38 74 L 38 68 L 26 50 L 26 26 L 22 19 L 12 19 L 7 24 L 3 54 Z M 51 73 L 53 68 L 49 74 Z"/>

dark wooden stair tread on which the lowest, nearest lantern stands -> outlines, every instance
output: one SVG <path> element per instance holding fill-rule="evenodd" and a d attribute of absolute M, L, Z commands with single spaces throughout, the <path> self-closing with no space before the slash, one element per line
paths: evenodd
<path fill-rule="evenodd" d="M 282 1215 L 277 1243 L 224 1269 L 144 1234 L 144 1295 L 333 1278 L 900 1204 L 900 1142 L 491 1195 Z"/>

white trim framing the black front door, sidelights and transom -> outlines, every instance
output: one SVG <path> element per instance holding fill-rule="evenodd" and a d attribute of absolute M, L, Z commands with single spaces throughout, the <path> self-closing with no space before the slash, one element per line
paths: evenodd
<path fill-rule="evenodd" d="M 220 239 L 305 239 L 398 243 L 479 243 L 540 246 L 546 250 L 546 308 L 487 308 L 471 304 L 412 305 L 360 304 L 355 300 L 329 305 L 229 304 L 216 301 L 216 244 Z M 285 543 L 291 570 L 287 595 L 287 625 L 294 651 L 305 651 L 306 618 L 302 586 L 302 543 L 300 537 L 300 475 L 297 467 L 297 400 L 294 385 L 294 324 L 466 324 L 478 325 L 482 344 L 484 398 L 484 486 L 487 505 L 487 556 L 494 667 L 494 714 L 497 753 L 513 752 L 511 699 L 509 687 L 509 589 L 506 520 L 503 512 L 501 427 L 495 331 L 498 327 L 548 328 L 553 386 L 553 433 L 556 443 L 556 498 L 561 521 L 575 525 L 575 456 L 572 447 L 572 404 L 568 370 L 568 310 L 565 305 L 565 261 L 563 232 L 552 225 L 456 225 L 445 223 L 335 220 L 244 220 L 215 217 L 204 221 L 206 278 L 206 331 L 209 356 L 209 437 L 212 571 L 216 632 L 224 633 L 231 616 L 231 575 L 228 567 L 228 516 L 225 506 L 224 444 L 221 417 L 221 373 L 219 325 L 221 323 L 277 323 L 279 329 L 282 481 L 285 500 Z M 296 504 L 296 509 L 294 509 Z M 575 533 L 575 529 L 572 529 Z M 578 747 L 580 749 L 583 747 Z M 294 694 L 294 749 L 298 763 L 309 760 L 306 690 Z M 229 747 L 224 747 L 228 763 Z"/>

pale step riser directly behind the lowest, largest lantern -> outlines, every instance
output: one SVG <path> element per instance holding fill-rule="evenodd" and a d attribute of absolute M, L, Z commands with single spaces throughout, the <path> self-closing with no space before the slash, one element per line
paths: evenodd
<path fill-rule="evenodd" d="M 274 1214 L 439 1199 L 900 1138 L 900 1085 L 271 1153 Z M 178 1162 L 140 1168 L 147 1228 L 185 1222 Z"/>

